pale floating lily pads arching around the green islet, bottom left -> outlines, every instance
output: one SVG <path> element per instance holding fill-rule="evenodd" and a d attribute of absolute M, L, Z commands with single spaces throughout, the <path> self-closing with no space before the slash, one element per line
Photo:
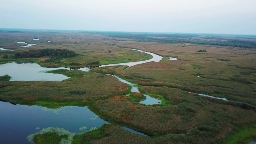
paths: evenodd
<path fill-rule="evenodd" d="M 40 132 L 37 132 L 35 134 L 30 134 L 27 137 L 28 142 L 34 144 L 34 136 L 36 136 L 37 134 L 45 134 L 45 133 L 56 133 L 58 134 L 58 136 L 63 136 L 63 135 L 67 135 L 67 138 L 62 138 L 62 140 L 60 141 L 60 144 L 71 144 L 73 137 L 75 135 L 75 133 L 71 133 L 68 130 L 65 130 L 63 128 L 54 128 L 54 127 L 49 127 L 49 128 L 43 128 Z"/>

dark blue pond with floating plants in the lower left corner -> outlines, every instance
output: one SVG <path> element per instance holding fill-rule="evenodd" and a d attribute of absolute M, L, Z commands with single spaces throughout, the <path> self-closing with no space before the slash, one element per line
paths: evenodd
<path fill-rule="evenodd" d="M 55 129 L 78 134 L 99 128 L 103 124 L 109 122 L 96 116 L 87 107 L 50 109 L 0 102 L 0 144 L 29 144 L 31 137 L 28 136 L 43 128 L 44 132 Z"/>

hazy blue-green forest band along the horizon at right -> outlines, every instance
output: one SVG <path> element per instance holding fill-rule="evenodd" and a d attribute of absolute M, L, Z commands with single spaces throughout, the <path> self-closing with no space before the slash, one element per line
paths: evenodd
<path fill-rule="evenodd" d="M 207 35 L 184 33 L 142 33 L 142 32 L 83 32 L 96 33 L 111 36 L 112 38 L 127 38 L 138 42 L 156 42 L 160 44 L 206 44 L 215 46 L 233 46 L 239 48 L 256 48 L 256 36 L 250 35 Z M 108 40 L 107 38 L 102 38 Z M 207 39 L 207 40 L 205 40 Z M 115 40 L 115 39 L 109 39 Z M 121 40 L 116 40 L 121 41 Z M 126 40 L 128 41 L 128 40 Z"/>

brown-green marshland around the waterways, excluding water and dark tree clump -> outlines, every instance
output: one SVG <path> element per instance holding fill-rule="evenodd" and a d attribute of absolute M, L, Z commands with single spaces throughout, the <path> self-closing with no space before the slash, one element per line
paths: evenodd
<path fill-rule="evenodd" d="M 141 33 L 140 33 L 141 34 Z M 127 68 L 110 66 L 80 70 L 54 70 L 71 78 L 62 82 L 8 82 L 0 77 L 0 99 L 18 104 L 46 107 L 88 106 L 110 125 L 74 136 L 72 143 L 248 143 L 256 138 L 256 49 L 254 36 L 205 36 L 180 34 L 175 38 L 160 34 L 108 32 L 0 32 L 0 64 L 34 61 L 41 66 L 92 66 L 93 62 L 114 64 L 152 58 L 131 48 L 163 56 L 161 62 L 149 62 Z M 169 36 L 169 37 L 168 37 Z M 72 39 L 69 39 L 72 37 Z M 32 39 L 40 38 L 39 41 Z M 171 40 L 177 40 L 172 42 Z M 232 41 L 233 40 L 233 41 Z M 234 41 L 235 40 L 235 41 Z M 239 46 L 232 46 L 237 44 Z M 37 44 L 19 48 L 18 41 Z M 47 42 L 46 42 L 47 41 Z M 52 41 L 52 42 L 48 42 Z M 189 43 L 190 42 L 190 43 Z M 222 43 L 224 42 L 224 43 Z M 244 43 L 243 43 L 244 42 Z M 217 45 L 217 43 L 221 43 Z M 209 45 L 212 44 L 212 45 Z M 244 48 L 245 47 L 245 48 Z M 72 58 L 48 63 L 42 58 L 13 58 L 16 52 L 46 48 L 76 52 Z M 198 52 L 206 50 L 207 52 Z M 3 58 L 5 55 L 8 58 Z M 169 57 L 178 60 L 169 60 Z M 71 63 L 76 65 L 71 65 Z M 145 106 L 140 93 L 118 81 L 114 74 L 134 84 L 140 92 L 162 100 Z M 199 96 L 210 94 L 228 101 Z M 147 134 L 136 135 L 120 126 Z M 54 133 L 36 136 L 41 143 L 47 136 L 59 142 Z M 65 136 L 63 136 L 65 137 Z"/>

